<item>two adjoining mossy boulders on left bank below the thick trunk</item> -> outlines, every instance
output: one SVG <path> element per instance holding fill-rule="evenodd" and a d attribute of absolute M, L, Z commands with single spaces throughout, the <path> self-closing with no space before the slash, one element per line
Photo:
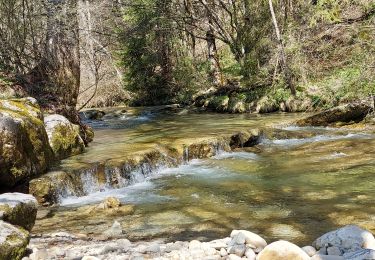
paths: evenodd
<path fill-rule="evenodd" d="M 11 190 L 83 152 L 81 134 L 65 117 L 44 115 L 34 98 L 0 99 L 0 189 Z"/>

